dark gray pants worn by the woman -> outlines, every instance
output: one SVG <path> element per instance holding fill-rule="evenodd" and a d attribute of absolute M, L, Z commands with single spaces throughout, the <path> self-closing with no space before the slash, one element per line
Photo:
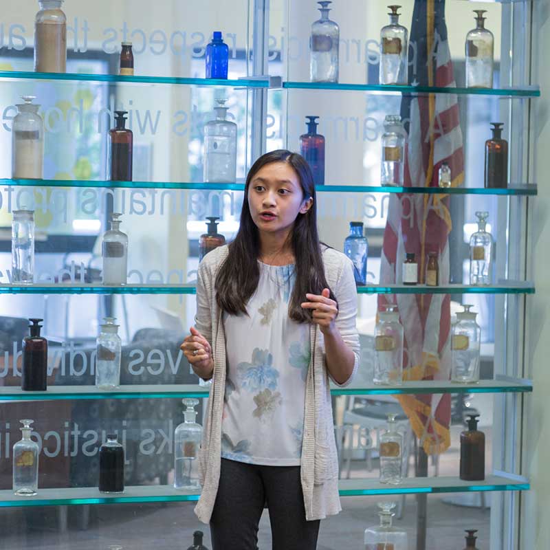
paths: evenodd
<path fill-rule="evenodd" d="M 212 550 L 257 550 L 258 524 L 266 502 L 272 550 L 317 548 L 320 521 L 305 519 L 300 466 L 259 466 L 221 459 L 210 519 Z"/>

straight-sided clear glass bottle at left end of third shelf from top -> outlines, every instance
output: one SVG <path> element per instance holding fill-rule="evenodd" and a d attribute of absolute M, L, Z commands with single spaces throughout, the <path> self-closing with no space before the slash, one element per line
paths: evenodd
<path fill-rule="evenodd" d="M 34 210 L 13 211 L 12 282 L 34 282 Z"/>

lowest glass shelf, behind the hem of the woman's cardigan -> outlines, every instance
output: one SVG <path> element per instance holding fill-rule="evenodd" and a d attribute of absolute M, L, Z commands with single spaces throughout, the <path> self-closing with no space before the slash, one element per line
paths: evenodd
<path fill-rule="evenodd" d="M 380 494 L 463 493 L 476 491 L 527 491 L 529 480 L 498 472 L 484 481 L 462 481 L 458 477 L 405 478 L 402 485 L 382 485 L 377 479 L 342 479 L 341 496 Z M 185 502 L 199 500 L 199 493 L 179 491 L 171 485 L 126 487 L 121 494 L 101 494 L 96 487 L 40 489 L 36 496 L 15 496 L 10 489 L 0 491 L 0 507 L 60 506 L 79 504 L 120 504 Z"/>

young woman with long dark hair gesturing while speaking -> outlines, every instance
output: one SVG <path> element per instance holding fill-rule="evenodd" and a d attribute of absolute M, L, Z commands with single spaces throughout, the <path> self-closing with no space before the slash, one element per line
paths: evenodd
<path fill-rule="evenodd" d="M 305 159 L 273 151 L 250 168 L 235 240 L 204 257 L 195 327 L 181 344 L 212 378 L 199 454 L 213 550 L 256 550 L 269 508 L 274 550 L 314 550 L 341 510 L 329 379 L 359 362 L 351 261 L 318 239 Z"/>

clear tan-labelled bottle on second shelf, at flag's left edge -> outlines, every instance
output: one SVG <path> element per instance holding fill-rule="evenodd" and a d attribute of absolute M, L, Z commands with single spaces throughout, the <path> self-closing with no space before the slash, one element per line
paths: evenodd
<path fill-rule="evenodd" d="M 402 186 L 406 133 L 399 115 L 386 115 L 382 134 L 382 185 Z"/>

